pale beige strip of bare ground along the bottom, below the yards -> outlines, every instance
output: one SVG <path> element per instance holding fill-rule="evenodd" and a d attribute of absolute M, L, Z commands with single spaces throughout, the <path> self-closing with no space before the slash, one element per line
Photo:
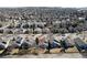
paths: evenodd
<path fill-rule="evenodd" d="M 39 54 L 39 55 L 7 55 L 1 58 L 86 58 L 87 53 L 58 53 L 58 54 Z"/>

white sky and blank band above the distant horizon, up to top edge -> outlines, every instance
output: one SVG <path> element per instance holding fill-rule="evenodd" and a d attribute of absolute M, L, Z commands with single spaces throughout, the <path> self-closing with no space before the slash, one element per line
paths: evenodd
<path fill-rule="evenodd" d="M 63 7 L 86 8 L 87 0 L 0 0 L 0 8 L 15 7 Z"/>

